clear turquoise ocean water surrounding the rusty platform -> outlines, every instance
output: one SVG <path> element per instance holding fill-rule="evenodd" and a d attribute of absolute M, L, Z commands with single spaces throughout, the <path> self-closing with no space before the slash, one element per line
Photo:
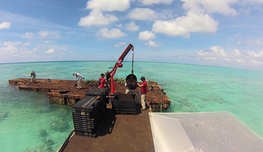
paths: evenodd
<path fill-rule="evenodd" d="M 46 93 L 18 90 L 9 79 L 98 79 L 116 61 L 65 61 L 0 64 L 0 152 L 57 151 L 74 129 L 70 105 L 51 103 Z M 157 81 L 171 106 L 166 112 L 228 111 L 263 136 L 263 72 L 186 64 L 134 62 L 139 79 Z M 126 78 L 131 62 L 115 77 Z M 140 80 L 139 80 L 140 81 Z M 146 97 L 147 98 L 147 97 Z M 172 131 L 172 130 L 171 130 Z"/>

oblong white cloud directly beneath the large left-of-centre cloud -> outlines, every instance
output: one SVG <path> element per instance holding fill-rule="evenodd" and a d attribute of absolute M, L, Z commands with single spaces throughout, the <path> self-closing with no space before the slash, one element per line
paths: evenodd
<path fill-rule="evenodd" d="M 103 38 L 120 38 L 127 36 L 125 33 L 123 33 L 119 29 L 99 29 L 99 32 L 96 34 L 97 37 L 103 37 Z"/>

